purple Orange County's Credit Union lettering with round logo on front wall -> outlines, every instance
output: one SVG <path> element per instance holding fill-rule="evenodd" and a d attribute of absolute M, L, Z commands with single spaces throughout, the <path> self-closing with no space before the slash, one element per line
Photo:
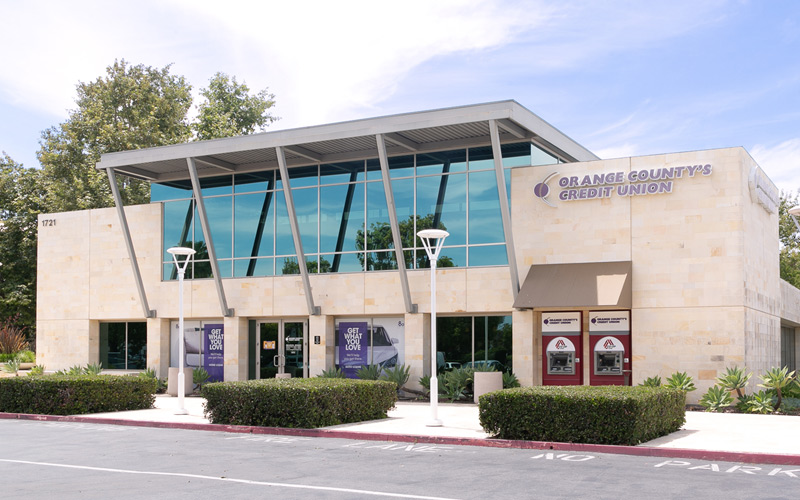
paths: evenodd
<path fill-rule="evenodd" d="M 676 179 L 709 176 L 713 168 L 711 164 L 684 165 L 678 167 L 645 168 L 625 172 L 609 172 L 606 174 L 586 174 L 583 176 L 563 176 L 558 179 L 560 201 L 583 201 L 613 196 L 647 196 L 672 193 Z M 551 173 L 533 188 L 533 194 L 545 204 L 555 207 L 547 199 L 550 195 L 548 182 L 556 177 Z"/>

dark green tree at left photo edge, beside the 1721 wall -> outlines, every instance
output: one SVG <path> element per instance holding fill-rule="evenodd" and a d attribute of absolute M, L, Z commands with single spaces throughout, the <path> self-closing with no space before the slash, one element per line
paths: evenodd
<path fill-rule="evenodd" d="M 18 323 L 36 323 L 37 216 L 45 212 L 40 170 L 0 157 L 0 318 L 19 314 Z"/>

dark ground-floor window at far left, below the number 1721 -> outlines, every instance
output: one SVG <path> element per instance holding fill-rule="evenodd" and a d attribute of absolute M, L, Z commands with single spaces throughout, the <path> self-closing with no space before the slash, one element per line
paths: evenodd
<path fill-rule="evenodd" d="M 147 323 L 100 323 L 100 363 L 106 370 L 147 368 Z"/>

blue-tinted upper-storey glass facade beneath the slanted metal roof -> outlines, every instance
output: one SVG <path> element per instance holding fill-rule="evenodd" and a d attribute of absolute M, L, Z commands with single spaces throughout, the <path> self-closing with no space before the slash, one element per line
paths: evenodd
<path fill-rule="evenodd" d="M 502 146 L 510 168 L 557 163 L 529 142 Z M 405 265 L 430 267 L 422 229 L 450 233 L 439 267 L 507 265 L 497 177 L 490 147 L 389 158 Z M 299 236 L 310 273 L 396 269 L 389 208 L 376 158 L 289 169 Z M 222 278 L 299 274 L 280 173 L 265 171 L 201 180 Z M 152 184 L 163 202 L 163 279 L 177 279 L 166 249 L 197 253 L 187 279 L 210 278 L 207 243 L 189 181 Z"/>

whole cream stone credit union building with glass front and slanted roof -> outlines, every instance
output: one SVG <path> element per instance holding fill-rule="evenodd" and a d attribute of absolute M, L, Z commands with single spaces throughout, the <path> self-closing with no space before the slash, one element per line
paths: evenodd
<path fill-rule="evenodd" d="M 40 216 L 37 361 L 217 378 L 430 366 L 523 385 L 796 367 L 778 191 L 742 148 L 601 160 L 514 101 L 103 155 L 117 207 Z M 120 176 L 152 183 L 120 206 Z M 307 262 L 307 266 L 298 265 Z M 205 342 L 206 345 L 203 345 Z M 216 342 L 216 345 L 212 345 Z M 214 359 L 210 363 L 209 359 Z M 204 361 L 205 359 L 205 361 Z M 696 396 L 696 397 L 699 397 Z"/>

